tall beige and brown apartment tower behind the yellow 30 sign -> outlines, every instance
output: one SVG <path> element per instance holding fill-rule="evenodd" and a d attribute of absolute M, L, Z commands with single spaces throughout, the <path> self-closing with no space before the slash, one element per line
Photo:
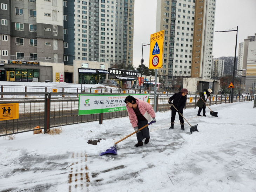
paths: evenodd
<path fill-rule="evenodd" d="M 166 87 L 183 77 L 210 79 L 216 0 L 157 0 L 156 31 L 165 30 L 163 68 Z"/>

